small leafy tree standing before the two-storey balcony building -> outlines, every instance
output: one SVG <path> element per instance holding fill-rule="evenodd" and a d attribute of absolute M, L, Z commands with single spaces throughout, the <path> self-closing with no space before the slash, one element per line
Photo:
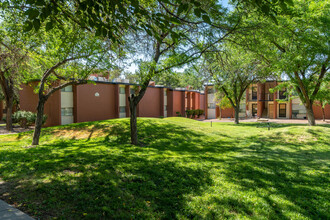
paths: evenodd
<path fill-rule="evenodd" d="M 262 58 L 226 44 L 224 52 L 208 57 L 209 72 L 215 87 L 221 91 L 235 110 L 235 124 L 239 123 L 240 103 L 249 85 L 265 79 L 267 65 Z"/>

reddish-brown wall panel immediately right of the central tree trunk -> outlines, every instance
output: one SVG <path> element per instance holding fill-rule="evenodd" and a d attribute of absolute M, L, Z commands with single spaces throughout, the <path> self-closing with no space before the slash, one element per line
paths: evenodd
<path fill-rule="evenodd" d="M 161 109 L 160 105 L 160 89 L 149 87 L 139 103 L 139 117 L 159 117 Z"/>

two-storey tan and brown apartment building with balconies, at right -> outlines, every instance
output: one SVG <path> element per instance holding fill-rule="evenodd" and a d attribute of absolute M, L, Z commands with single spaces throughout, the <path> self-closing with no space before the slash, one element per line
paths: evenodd
<path fill-rule="evenodd" d="M 250 85 L 246 90 L 245 99 L 241 102 L 240 118 L 271 118 L 271 119 L 307 119 L 306 109 L 299 98 L 289 99 L 286 89 L 271 92 L 271 89 L 279 85 L 278 81 L 266 81 Z M 205 99 L 207 109 L 206 118 L 218 118 L 220 109 L 216 105 L 214 98 L 214 85 L 206 85 Z M 233 118 L 234 109 L 228 108 L 221 110 L 222 118 Z M 314 116 L 322 119 L 322 109 L 317 102 L 313 105 Z M 330 119 L 330 105 L 325 107 L 325 118 Z"/>

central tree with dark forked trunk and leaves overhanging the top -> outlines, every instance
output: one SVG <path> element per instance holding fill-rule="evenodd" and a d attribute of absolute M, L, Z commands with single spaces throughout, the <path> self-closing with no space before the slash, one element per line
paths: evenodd
<path fill-rule="evenodd" d="M 273 5 L 277 5 L 278 2 L 284 3 L 287 0 L 271 0 L 269 1 L 257 1 L 251 0 L 245 3 L 244 1 L 234 1 L 240 3 L 240 5 L 251 5 L 255 6 L 261 11 L 270 14 L 269 12 L 273 12 Z M 252 4 L 252 3 L 257 4 Z M 22 4 L 23 1 L 10 1 L 12 5 L 2 4 L 2 7 L 14 7 L 18 9 L 24 10 L 27 19 L 26 19 L 26 31 L 30 31 L 33 28 L 35 30 L 39 30 L 40 24 L 47 23 L 46 29 L 50 30 L 55 26 L 61 27 L 61 21 L 70 21 L 70 23 L 78 24 L 80 27 L 95 33 L 95 35 L 102 35 L 104 37 L 108 37 L 113 42 L 117 42 L 119 44 L 122 43 L 122 37 L 125 35 L 127 30 L 134 30 L 141 32 L 143 30 L 144 33 L 147 33 L 149 36 L 152 36 L 156 39 L 154 45 L 154 55 L 152 61 L 149 62 L 150 66 L 148 68 L 148 73 L 145 74 L 146 78 L 142 81 L 141 90 L 139 94 L 136 96 L 133 95 L 130 97 L 131 107 L 131 120 L 134 119 L 134 111 L 136 110 L 136 105 L 143 97 L 147 86 L 149 84 L 150 79 L 155 73 L 161 73 L 165 70 L 169 70 L 174 66 L 183 65 L 189 61 L 196 59 L 196 50 L 184 50 L 185 48 L 189 48 L 188 45 L 186 47 L 181 47 L 180 54 L 181 61 L 175 62 L 174 65 L 168 65 L 165 68 L 158 69 L 156 65 L 158 64 L 161 55 L 165 52 L 168 52 L 174 46 L 178 45 L 179 38 L 181 34 L 193 33 L 192 30 L 198 27 L 199 31 L 202 31 L 203 24 L 210 24 L 211 19 L 208 16 L 208 13 L 205 11 L 207 8 L 212 7 L 209 12 L 212 12 L 212 15 L 219 18 L 223 15 L 221 11 L 219 11 L 219 5 L 215 4 L 213 1 L 205 1 L 201 4 L 199 1 L 190 0 L 182 3 L 182 1 L 174 0 L 174 1 L 151 1 L 144 2 L 138 0 L 128 0 L 128 1 L 112 1 L 111 4 L 104 1 L 79 1 L 79 0 L 61 0 L 61 1 L 35 1 L 29 0 L 28 4 Z M 274 4 L 273 4 L 274 3 Z M 156 6 L 156 7 L 155 7 Z M 157 7 L 161 7 L 162 10 L 158 10 Z M 156 8 L 156 10 L 154 10 Z M 272 9 L 272 10 L 270 10 Z M 187 16 L 190 15 L 190 16 Z M 191 15 L 195 18 L 198 18 L 197 21 L 190 21 Z M 223 35 L 223 30 L 227 30 L 228 25 L 224 22 L 223 17 L 218 20 L 222 25 L 217 25 L 216 22 L 214 25 L 217 26 L 221 31 L 218 36 Z M 177 26 L 182 27 L 182 24 L 188 26 L 190 25 L 190 29 L 181 29 L 181 34 L 178 34 L 179 28 Z M 191 29 L 194 27 L 193 29 Z M 199 53 L 205 52 L 206 48 L 209 45 L 204 44 L 203 39 L 198 35 L 197 31 L 195 34 L 195 42 L 189 42 L 187 38 L 185 38 L 185 43 L 188 42 L 193 45 L 193 48 L 198 48 Z M 212 34 L 209 33 L 208 36 Z M 216 42 L 220 42 L 224 37 L 217 37 Z M 169 38 L 172 39 L 169 41 Z M 205 46 L 207 45 L 207 46 Z M 202 48 L 204 47 L 204 48 Z M 186 54 L 184 54 L 184 52 Z M 178 51 L 176 51 L 178 53 Z M 185 56 L 184 56 L 185 55 Z M 135 107 L 134 107 L 135 106 Z M 132 116 L 133 115 L 133 116 Z M 132 125 L 133 124 L 133 125 Z M 134 125 L 135 124 L 135 125 Z M 136 131 L 136 117 L 135 122 L 131 123 L 131 139 L 133 144 L 137 144 L 137 131 Z"/>

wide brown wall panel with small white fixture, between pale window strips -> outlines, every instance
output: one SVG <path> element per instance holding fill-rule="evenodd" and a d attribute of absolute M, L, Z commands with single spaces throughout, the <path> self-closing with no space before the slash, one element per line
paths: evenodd
<path fill-rule="evenodd" d="M 115 84 L 86 84 L 76 88 L 76 122 L 98 121 L 118 117 Z M 95 94 L 99 96 L 95 96 Z M 117 110 L 116 110 L 117 109 Z"/>

